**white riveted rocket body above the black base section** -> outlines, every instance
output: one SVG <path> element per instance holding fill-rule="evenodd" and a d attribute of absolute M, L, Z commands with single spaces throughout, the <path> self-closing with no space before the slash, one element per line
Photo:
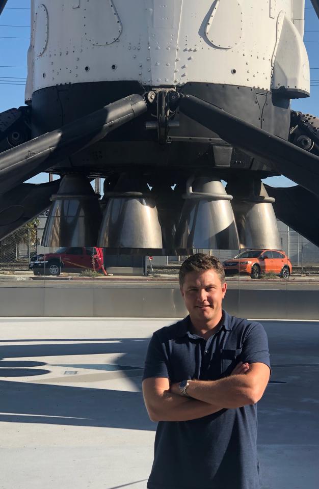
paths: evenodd
<path fill-rule="evenodd" d="M 25 100 L 60 84 L 137 80 L 309 94 L 304 0 L 32 0 Z"/>

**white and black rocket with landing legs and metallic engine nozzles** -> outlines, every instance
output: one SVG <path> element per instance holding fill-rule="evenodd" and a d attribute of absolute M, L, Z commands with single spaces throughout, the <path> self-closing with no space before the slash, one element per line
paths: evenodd
<path fill-rule="evenodd" d="M 31 25 L 26 105 L 0 114 L 0 239 L 52 202 L 47 246 L 277 249 L 276 216 L 319 245 L 283 205 L 319 197 L 319 122 L 290 110 L 303 0 L 32 0 Z M 61 183 L 25 186 L 42 171 Z M 281 174 L 293 193 L 262 185 Z"/>

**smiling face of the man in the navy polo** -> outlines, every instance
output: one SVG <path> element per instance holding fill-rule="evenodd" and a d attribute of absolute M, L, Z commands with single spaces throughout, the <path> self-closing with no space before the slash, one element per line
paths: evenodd
<path fill-rule="evenodd" d="M 186 274 L 180 291 L 191 318 L 208 323 L 220 319 L 226 288 L 226 283 L 222 284 L 219 275 L 211 268 Z"/>

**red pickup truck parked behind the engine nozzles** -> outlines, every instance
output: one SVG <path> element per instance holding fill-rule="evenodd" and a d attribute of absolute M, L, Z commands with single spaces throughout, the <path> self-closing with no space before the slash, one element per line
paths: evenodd
<path fill-rule="evenodd" d="M 96 271 L 103 267 L 103 249 L 89 247 L 59 248 L 31 258 L 30 270 L 34 275 L 60 275 L 61 271 L 79 272 L 88 268 Z"/>

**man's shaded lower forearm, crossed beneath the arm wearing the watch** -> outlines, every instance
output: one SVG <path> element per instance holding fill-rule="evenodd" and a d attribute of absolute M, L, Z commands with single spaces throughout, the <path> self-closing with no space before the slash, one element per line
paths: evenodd
<path fill-rule="evenodd" d="M 181 397 L 170 391 L 165 391 L 149 415 L 152 421 L 190 421 L 217 413 L 220 410 L 220 406 L 212 403 Z"/>

